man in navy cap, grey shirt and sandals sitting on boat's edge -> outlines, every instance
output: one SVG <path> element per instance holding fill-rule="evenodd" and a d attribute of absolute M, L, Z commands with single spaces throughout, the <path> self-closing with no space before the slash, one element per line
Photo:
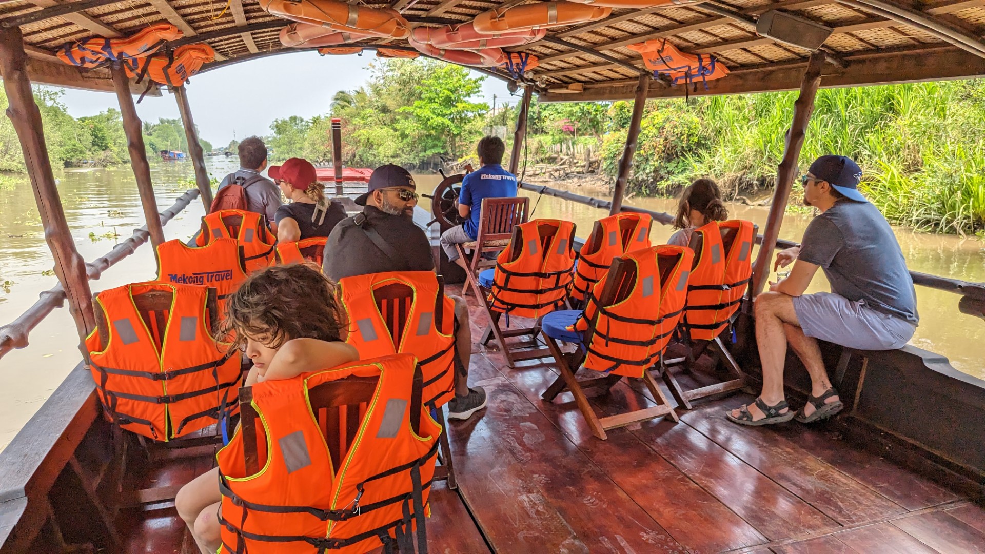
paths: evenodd
<path fill-rule="evenodd" d="M 919 317 L 913 279 L 886 218 L 858 191 L 862 170 L 844 156 L 821 156 L 802 178 L 804 203 L 821 213 L 801 244 L 779 252 L 773 269 L 794 266 L 755 299 L 755 341 L 762 393 L 726 414 L 743 425 L 797 419 L 811 423 L 844 404 L 827 379 L 818 339 L 861 350 L 895 350 L 913 336 Z M 818 268 L 830 293 L 805 295 Z M 783 394 L 787 343 L 811 375 L 811 395 L 794 412 Z"/>

